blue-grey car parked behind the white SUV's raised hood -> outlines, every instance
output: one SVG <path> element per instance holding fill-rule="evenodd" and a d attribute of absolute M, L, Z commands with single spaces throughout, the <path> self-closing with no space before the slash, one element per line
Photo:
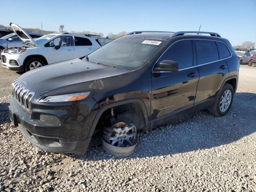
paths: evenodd
<path fill-rule="evenodd" d="M 28 33 L 33 39 L 42 37 L 42 34 Z M 25 45 L 16 33 L 11 33 L 0 38 L 0 50 Z"/>

